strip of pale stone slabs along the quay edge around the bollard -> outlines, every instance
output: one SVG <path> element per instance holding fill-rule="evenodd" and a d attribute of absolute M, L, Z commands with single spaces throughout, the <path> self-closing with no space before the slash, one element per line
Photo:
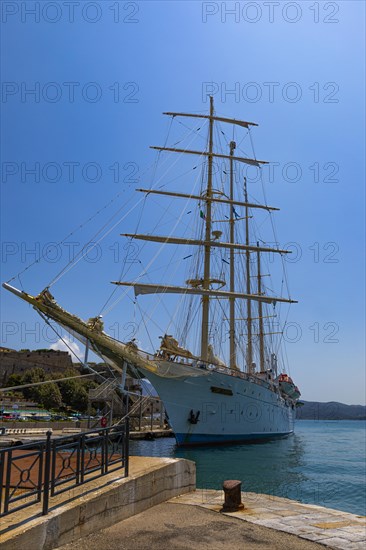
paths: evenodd
<path fill-rule="evenodd" d="M 197 489 L 170 502 L 219 512 L 223 501 L 222 491 Z M 340 550 L 366 548 L 365 516 L 256 493 L 242 493 L 242 502 L 245 506 L 244 510 L 225 515 L 257 526 L 291 533 L 330 548 Z"/>

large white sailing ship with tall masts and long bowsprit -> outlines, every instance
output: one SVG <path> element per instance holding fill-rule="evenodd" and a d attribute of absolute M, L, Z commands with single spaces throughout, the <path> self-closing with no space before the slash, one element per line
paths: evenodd
<path fill-rule="evenodd" d="M 235 178 L 237 163 L 261 169 L 266 162 L 257 160 L 254 154 L 253 158 L 236 156 L 237 144 L 233 139 L 226 153 L 214 148 L 217 124 L 229 124 L 246 132 L 257 124 L 218 116 L 212 97 L 208 114 L 164 114 L 172 119 L 199 119 L 208 125 L 205 151 L 154 147 L 160 152 L 200 156 L 205 161 L 204 182 L 197 194 L 161 188 L 137 191 L 147 198 L 186 199 L 198 205 L 199 212 L 196 212 L 201 225 L 193 225 L 199 225 L 199 235 L 195 238 L 151 233 L 123 235 L 130 240 L 161 243 L 168 248 L 188 246 L 194 250 L 191 256 L 196 261 L 185 283 L 151 283 L 136 278 L 114 281 L 114 284 L 132 287 L 135 298 L 156 295 L 161 300 L 178 295 L 186 307 L 181 334 L 167 331 L 161 335 L 159 349 L 143 351 L 136 339 L 121 342 L 104 332 L 100 316 L 83 321 L 63 309 L 49 287 L 32 296 L 9 283 L 3 286 L 32 304 L 46 321 L 54 320 L 75 335 L 121 373 L 122 387 L 128 371 L 147 378 L 164 404 L 178 445 L 286 437 L 294 430 L 300 392 L 283 372 L 279 349 L 273 345 L 275 331 L 267 332 L 265 321 L 277 317 L 277 304 L 291 304 L 294 300 L 272 295 L 263 282 L 266 274 L 262 270 L 262 259 L 271 254 L 283 260 L 289 251 L 268 246 L 264 241 L 253 242 L 254 213 L 272 215 L 278 208 L 249 200 L 246 177 L 239 183 Z M 221 187 L 214 185 L 214 162 L 217 161 L 229 165 L 225 171 L 228 177 Z M 183 307 L 182 304 L 178 305 Z M 197 305 L 195 325 L 190 316 L 192 304 Z M 221 320 L 218 313 L 222 314 Z M 189 340 L 192 327 L 193 339 Z M 281 340 L 283 333 L 277 334 Z"/>

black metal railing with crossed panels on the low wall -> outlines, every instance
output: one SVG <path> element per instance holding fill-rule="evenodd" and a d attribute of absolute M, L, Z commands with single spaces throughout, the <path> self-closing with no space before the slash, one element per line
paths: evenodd
<path fill-rule="evenodd" d="M 26 461 L 26 463 L 24 462 Z M 0 517 L 42 504 L 111 471 L 128 476 L 129 419 L 119 426 L 0 449 Z"/>

